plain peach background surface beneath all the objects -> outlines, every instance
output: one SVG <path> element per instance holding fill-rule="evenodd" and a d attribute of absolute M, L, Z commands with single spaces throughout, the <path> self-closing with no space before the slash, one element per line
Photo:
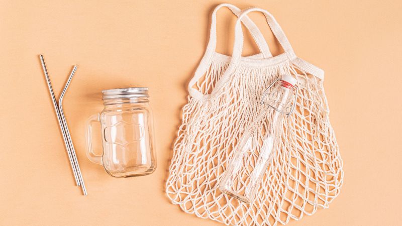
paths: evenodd
<path fill-rule="evenodd" d="M 164 193 L 185 87 L 219 3 L 1 1 L 0 224 L 221 225 L 182 212 Z M 402 2 L 231 3 L 270 11 L 296 54 L 326 71 L 344 185 L 329 209 L 288 225 L 400 224 Z M 262 16 L 251 17 L 279 53 Z M 218 52 L 231 54 L 235 17 L 222 10 L 218 20 Z M 244 54 L 256 53 L 250 40 L 245 46 Z M 87 197 L 74 187 L 39 54 L 57 95 L 79 65 L 65 112 Z M 102 89 L 140 85 L 150 88 L 158 168 L 114 179 L 86 159 L 84 123 L 102 110 Z"/>

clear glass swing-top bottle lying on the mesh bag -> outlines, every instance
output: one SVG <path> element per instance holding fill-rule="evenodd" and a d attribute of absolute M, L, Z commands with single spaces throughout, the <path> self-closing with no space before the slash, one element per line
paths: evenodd
<path fill-rule="evenodd" d="M 294 86 L 296 81 L 290 75 L 282 75 L 282 79 L 276 79 L 264 91 L 261 98 L 264 109 L 234 149 L 234 156 L 219 185 L 222 192 L 245 203 L 253 201 L 272 153 L 278 147 L 282 119 L 294 110 L 298 93 Z"/>

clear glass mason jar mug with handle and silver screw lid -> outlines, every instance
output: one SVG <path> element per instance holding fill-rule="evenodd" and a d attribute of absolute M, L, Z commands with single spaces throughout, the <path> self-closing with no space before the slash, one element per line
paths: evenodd
<path fill-rule="evenodd" d="M 148 88 L 103 90 L 104 109 L 89 118 L 86 154 L 116 178 L 147 175 L 156 169 L 154 126 Z M 92 149 L 92 124 L 102 127 L 102 155 Z"/>

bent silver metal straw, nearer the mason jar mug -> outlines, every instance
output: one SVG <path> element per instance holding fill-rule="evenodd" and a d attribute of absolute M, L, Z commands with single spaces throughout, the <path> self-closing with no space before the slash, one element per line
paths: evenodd
<path fill-rule="evenodd" d="M 64 111 L 63 111 L 63 98 L 64 98 L 64 94 L 66 93 L 67 88 L 68 88 L 68 86 L 70 85 L 72 76 L 74 75 L 76 69 L 77 69 L 77 66 L 75 65 L 74 68 L 73 68 L 72 71 L 71 71 L 70 76 L 68 76 L 68 79 L 67 79 L 67 81 L 66 81 L 66 84 L 64 85 L 63 91 L 62 91 L 61 94 L 60 94 L 60 97 L 59 97 L 59 110 L 60 110 L 60 115 L 61 115 L 61 121 L 62 121 L 62 123 L 63 123 L 64 130 L 65 130 L 66 135 L 67 135 L 67 141 L 68 141 L 69 146 L 70 146 L 70 152 L 71 152 L 71 155 L 72 155 L 72 161 L 73 161 L 73 163 L 74 163 L 74 165 L 75 165 L 76 172 L 77 172 L 77 174 L 78 174 L 78 182 L 81 184 L 82 193 L 83 193 L 84 195 L 86 195 L 87 193 L 86 193 L 86 188 L 85 188 L 84 180 L 83 180 L 82 174 L 81 174 L 81 169 L 79 168 L 77 156 L 76 156 L 76 154 L 75 154 L 75 148 L 74 148 L 74 145 L 73 145 L 73 143 L 72 143 L 71 134 L 70 134 L 70 131 L 68 130 L 67 121 L 66 121 L 66 118 L 65 118 L 65 116 L 64 116 Z"/>

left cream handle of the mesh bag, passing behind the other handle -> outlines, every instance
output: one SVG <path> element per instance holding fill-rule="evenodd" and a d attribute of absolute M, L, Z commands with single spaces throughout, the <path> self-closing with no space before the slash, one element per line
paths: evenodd
<path fill-rule="evenodd" d="M 223 7 L 229 8 L 229 10 L 232 11 L 232 13 L 234 15 L 236 15 L 237 17 L 239 17 L 239 15 L 241 14 L 241 10 L 232 4 L 220 4 L 214 9 L 214 11 L 212 13 L 212 18 L 211 18 L 210 39 L 209 39 L 209 43 L 208 43 L 206 52 L 204 54 L 203 59 L 199 63 L 197 69 L 195 70 L 194 76 L 188 83 L 188 92 L 191 96 L 194 96 L 194 97 L 205 96 L 203 93 L 200 93 L 198 90 L 192 88 L 192 86 L 197 82 L 197 80 L 200 77 L 202 77 L 204 75 L 205 71 L 209 67 L 212 57 L 214 56 L 214 53 L 216 50 L 216 45 L 217 45 L 217 12 L 219 9 L 221 9 Z M 244 26 L 250 31 L 262 56 L 264 58 L 272 57 L 272 54 L 264 39 L 264 36 L 260 32 L 260 30 L 257 28 L 257 26 L 254 24 L 254 22 L 246 15 L 243 16 L 242 19 L 240 19 L 238 21 L 239 21 L 239 23 L 242 22 L 244 24 Z"/>

